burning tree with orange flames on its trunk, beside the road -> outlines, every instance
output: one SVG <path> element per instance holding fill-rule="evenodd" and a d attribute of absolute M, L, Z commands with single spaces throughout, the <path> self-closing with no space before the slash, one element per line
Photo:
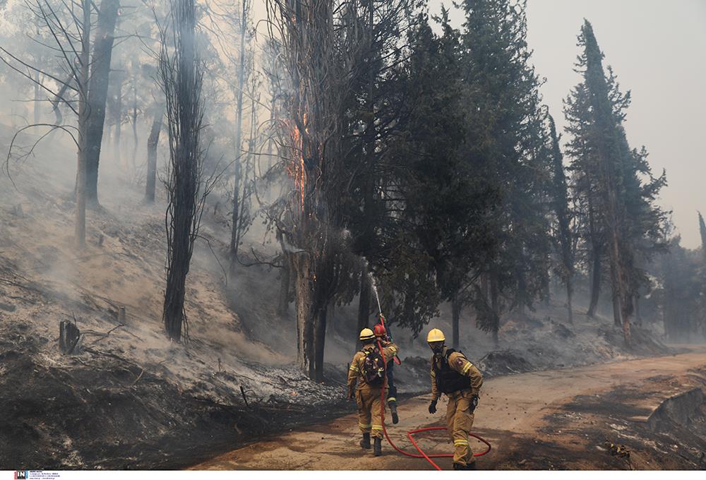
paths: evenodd
<path fill-rule="evenodd" d="M 337 267 L 345 258 L 346 246 L 336 222 L 347 181 L 340 132 L 353 71 L 343 57 L 352 54 L 352 47 L 336 42 L 354 40 L 354 36 L 334 29 L 345 30 L 354 20 L 341 18 L 346 15 L 342 9 L 352 6 L 334 11 L 333 4 L 268 1 L 270 23 L 281 34 L 283 63 L 293 89 L 287 102 L 289 121 L 282 122 L 289 138 L 283 153 L 293 189 L 278 227 L 293 246 L 285 256 L 297 304 L 297 361 L 304 373 L 317 379 L 323 378 L 326 309 L 340 289 L 341 278 L 350 272 Z"/>

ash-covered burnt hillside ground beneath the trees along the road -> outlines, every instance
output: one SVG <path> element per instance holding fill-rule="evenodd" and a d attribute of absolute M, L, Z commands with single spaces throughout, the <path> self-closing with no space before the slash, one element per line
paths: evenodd
<path fill-rule="evenodd" d="M 2 137 L 6 145 L 7 130 Z M 102 208 L 88 212 L 88 246 L 76 251 L 73 158 L 45 147 L 11 164 L 12 181 L 0 176 L 0 469 L 177 468 L 354 411 L 344 397 L 355 304 L 330 314 L 325 383 L 304 378 L 292 366 L 293 308 L 275 313 L 277 271 L 242 266 L 226 285 L 227 226 L 211 205 L 208 243 L 198 242 L 187 280 L 191 340 L 172 344 L 161 320 L 164 205 L 143 205 L 142 187 L 112 176 L 121 166 L 108 164 Z M 243 251 L 272 255 L 262 238 L 253 227 Z M 429 327 L 450 332 L 447 313 Z M 564 317 L 561 305 L 509 316 L 496 348 L 465 313 L 461 349 L 486 376 L 669 351 L 636 328 L 637 348 L 625 352 L 611 320 L 577 312 L 566 325 Z M 83 332 L 77 354 L 59 353 L 61 320 Z M 400 396 L 428 390 L 426 344 L 394 333 Z"/>

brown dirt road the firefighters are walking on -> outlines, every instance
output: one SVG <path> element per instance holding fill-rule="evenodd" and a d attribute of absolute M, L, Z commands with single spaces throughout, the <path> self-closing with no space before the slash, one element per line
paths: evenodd
<path fill-rule="evenodd" d="M 478 465 L 484 469 L 659 467 L 654 465 L 654 455 L 638 451 L 633 453 L 632 464 L 622 466 L 622 460 L 611 457 L 609 449 L 602 447 L 602 440 L 613 436 L 620 441 L 623 437 L 639 438 L 626 432 L 644 424 L 650 412 L 666 398 L 694 385 L 706 385 L 703 348 L 674 356 L 486 380 L 474 432 L 489 440 L 493 450 L 479 457 Z M 405 432 L 441 425 L 443 404 L 433 416 L 427 412 L 428 404 L 429 395 L 422 395 L 400 405 L 400 423 L 388 428 L 397 446 L 414 452 Z M 351 414 L 232 450 L 192 469 L 431 468 L 424 460 L 394 452 L 387 443 L 383 443 L 383 456 L 373 457 L 359 448 L 358 440 L 357 419 Z M 427 453 L 452 449 L 441 432 L 422 438 L 421 445 Z M 638 449 L 638 445 L 642 444 L 635 443 L 633 448 Z M 478 450 L 480 445 L 474 448 Z M 698 451 L 693 453 L 698 457 Z M 695 462 L 698 466 L 698 460 Z M 438 464 L 443 469 L 451 466 L 448 458 Z"/>

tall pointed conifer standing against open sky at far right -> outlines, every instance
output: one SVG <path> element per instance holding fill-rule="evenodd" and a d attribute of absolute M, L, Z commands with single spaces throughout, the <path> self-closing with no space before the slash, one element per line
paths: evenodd
<path fill-rule="evenodd" d="M 666 177 L 664 172 L 652 176 L 644 148 L 630 150 L 623 128 L 630 94 L 620 92 L 610 68 L 606 76 L 604 55 L 587 20 L 578 38 L 582 54 L 577 66 L 583 81 L 566 102 L 568 131 L 574 136 L 568 151 L 574 155 L 572 168 L 580 172 L 577 186 L 592 200 L 590 213 L 603 232 L 618 306 L 615 317 L 629 345 L 633 301 L 646 281 L 640 262 L 664 250 L 665 213 L 654 200 Z M 645 175 L 648 180 L 642 181 Z"/>

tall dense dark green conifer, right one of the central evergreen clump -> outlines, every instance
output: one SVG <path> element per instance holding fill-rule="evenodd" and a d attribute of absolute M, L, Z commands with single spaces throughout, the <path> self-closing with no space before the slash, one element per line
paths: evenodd
<path fill-rule="evenodd" d="M 497 248 L 484 266 L 490 299 L 475 302 L 479 327 L 493 335 L 505 307 L 520 313 L 532 308 L 548 273 L 551 160 L 542 126 L 541 82 L 527 47 L 525 5 L 509 0 L 462 4 L 469 117 L 465 155 L 479 160 L 476 174 L 496 185 L 499 193 L 492 219 Z"/>

